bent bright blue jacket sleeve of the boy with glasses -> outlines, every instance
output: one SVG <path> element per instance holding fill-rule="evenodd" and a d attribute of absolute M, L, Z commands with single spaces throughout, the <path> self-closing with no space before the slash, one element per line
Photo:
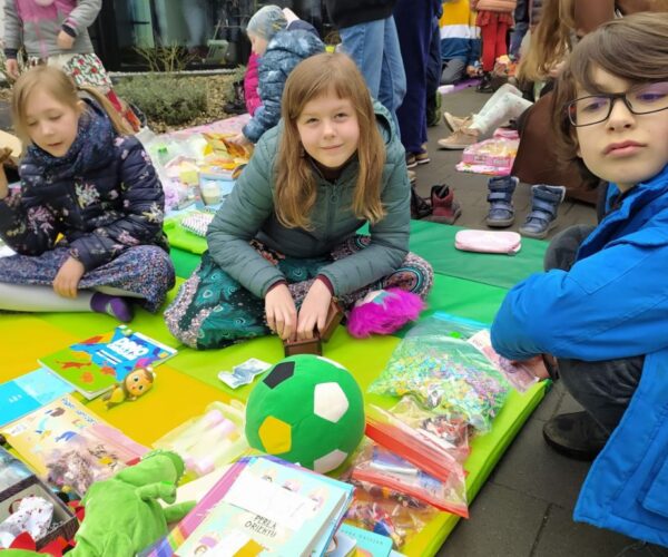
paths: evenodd
<path fill-rule="evenodd" d="M 668 237 L 657 229 L 651 243 L 637 238 L 514 286 L 492 325 L 494 350 L 511 360 L 600 361 L 668 346 Z"/>

